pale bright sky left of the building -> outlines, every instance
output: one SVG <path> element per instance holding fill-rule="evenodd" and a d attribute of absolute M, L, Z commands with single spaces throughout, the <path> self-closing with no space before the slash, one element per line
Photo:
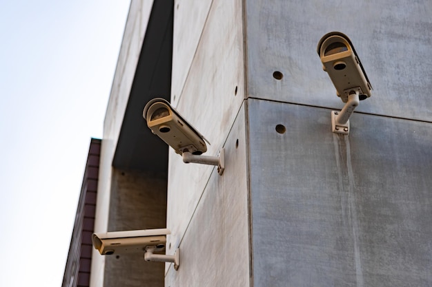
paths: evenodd
<path fill-rule="evenodd" d="M 0 0 L 0 286 L 61 286 L 129 5 Z"/>

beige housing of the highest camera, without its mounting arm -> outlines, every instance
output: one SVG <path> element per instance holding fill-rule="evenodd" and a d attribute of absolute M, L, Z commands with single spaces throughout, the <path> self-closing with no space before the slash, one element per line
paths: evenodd
<path fill-rule="evenodd" d="M 348 102 L 353 90 L 358 92 L 359 100 L 371 96 L 372 85 L 348 36 L 341 32 L 325 34 L 318 43 L 317 53 L 342 102 Z"/>

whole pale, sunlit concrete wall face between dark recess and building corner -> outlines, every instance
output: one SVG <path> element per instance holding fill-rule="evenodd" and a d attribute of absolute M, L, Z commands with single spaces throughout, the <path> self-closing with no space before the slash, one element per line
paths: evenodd
<path fill-rule="evenodd" d="M 248 156 L 244 102 L 242 1 L 175 1 L 171 103 L 208 140 L 206 155 L 224 147 L 224 176 L 168 165 L 168 251 L 181 250 L 166 286 L 248 286 Z"/>

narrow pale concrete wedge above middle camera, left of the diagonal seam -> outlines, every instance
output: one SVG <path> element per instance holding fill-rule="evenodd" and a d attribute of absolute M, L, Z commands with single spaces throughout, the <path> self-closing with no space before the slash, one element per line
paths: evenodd
<path fill-rule="evenodd" d="M 171 99 L 178 100 L 213 0 L 175 0 Z"/>

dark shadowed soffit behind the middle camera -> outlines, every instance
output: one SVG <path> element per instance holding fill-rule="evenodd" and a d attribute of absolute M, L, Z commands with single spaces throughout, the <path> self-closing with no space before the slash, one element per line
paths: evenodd
<path fill-rule="evenodd" d="M 112 166 L 168 172 L 168 145 L 142 117 L 146 103 L 169 100 L 173 59 L 173 0 L 155 0 L 132 82 Z"/>

